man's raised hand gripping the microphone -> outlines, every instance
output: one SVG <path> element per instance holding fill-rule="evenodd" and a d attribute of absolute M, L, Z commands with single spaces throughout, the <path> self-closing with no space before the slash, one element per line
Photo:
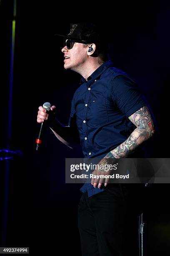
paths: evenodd
<path fill-rule="evenodd" d="M 37 123 L 43 123 L 44 121 L 48 120 L 49 122 L 55 119 L 55 106 L 52 106 L 50 110 L 52 111 L 50 115 L 47 113 L 47 110 L 40 106 L 38 109 L 37 115 Z"/>

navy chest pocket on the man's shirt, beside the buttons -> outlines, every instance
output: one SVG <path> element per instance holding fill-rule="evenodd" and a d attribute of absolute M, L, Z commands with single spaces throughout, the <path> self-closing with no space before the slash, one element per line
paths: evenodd
<path fill-rule="evenodd" d="M 105 125 L 108 122 L 105 97 L 101 95 L 97 98 L 91 98 L 87 110 L 87 120 L 92 125 Z"/>

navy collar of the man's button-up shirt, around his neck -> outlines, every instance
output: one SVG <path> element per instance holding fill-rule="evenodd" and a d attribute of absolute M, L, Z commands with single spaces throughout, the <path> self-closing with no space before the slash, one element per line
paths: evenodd
<path fill-rule="evenodd" d="M 97 79 L 98 77 L 101 76 L 101 74 L 103 72 L 105 72 L 105 70 L 108 68 L 108 67 L 113 67 L 113 63 L 112 61 L 106 61 L 104 62 L 100 67 L 98 67 L 89 77 L 87 77 L 87 80 L 82 77 L 81 80 L 80 80 L 80 84 L 82 83 L 87 83 L 89 80 L 91 79 Z"/>

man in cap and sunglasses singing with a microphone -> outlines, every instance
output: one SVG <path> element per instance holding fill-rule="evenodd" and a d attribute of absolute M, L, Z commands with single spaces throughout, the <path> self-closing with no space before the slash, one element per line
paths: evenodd
<path fill-rule="evenodd" d="M 108 44 L 97 26 L 73 24 L 63 37 L 64 68 L 81 74 L 82 79 L 72 99 L 69 125 L 64 127 L 51 117 L 53 133 L 70 148 L 81 143 L 85 158 L 100 157 L 99 164 L 139 156 L 140 145 L 154 133 L 154 123 L 134 80 L 108 61 Z M 51 110 L 54 113 L 55 106 Z M 37 122 L 45 120 L 48 114 L 40 106 Z M 122 251 L 126 189 L 107 183 L 105 179 L 92 179 L 80 189 L 82 256 L 117 256 Z"/>

